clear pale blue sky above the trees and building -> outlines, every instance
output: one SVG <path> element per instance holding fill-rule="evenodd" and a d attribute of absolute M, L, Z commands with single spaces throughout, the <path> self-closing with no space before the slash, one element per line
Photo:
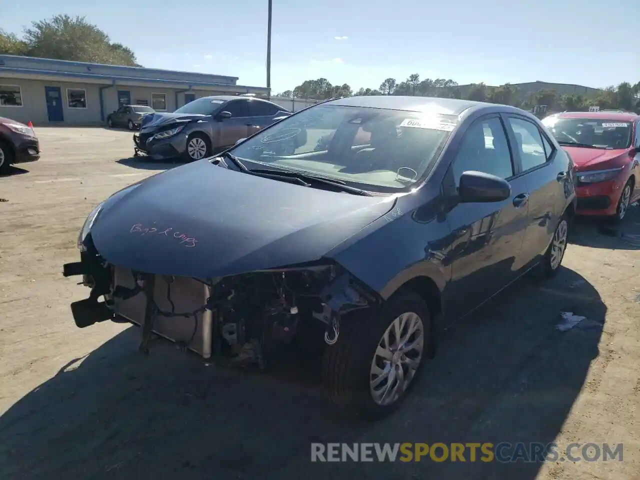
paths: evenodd
<path fill-rule="evenodd" d="M 266 84 L 267 0 L 4 2 L 0 28 L 20 33 L 57 13 L 86 16 L 145 67 Z M 412 73 L 460 84 L 636 83 L 639 19 L 638 0 L 273 0 L 271 86 L 325 77 L 357 90 Z"/>

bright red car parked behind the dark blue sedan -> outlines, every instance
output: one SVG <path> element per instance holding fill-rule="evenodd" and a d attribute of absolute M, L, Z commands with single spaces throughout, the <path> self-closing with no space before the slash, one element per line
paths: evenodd
<path fill-rule="evenodd" d="M 622 220 L 640 199 L 640 115 L 564 112 L 542 123 L 573 160 L 576 213 Z"/>

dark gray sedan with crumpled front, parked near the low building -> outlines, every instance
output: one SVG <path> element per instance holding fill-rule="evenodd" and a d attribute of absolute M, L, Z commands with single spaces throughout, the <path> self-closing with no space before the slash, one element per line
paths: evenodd
<path fill-rule="evenodd" d="M 155 160 L 200 160 L 289 115 L 290 111 L 267 100 L 233 95 L 202 97 L 173 113 L 154 113 L 145 118 L 140 134 L 133 137 L 135 152 Z"/>

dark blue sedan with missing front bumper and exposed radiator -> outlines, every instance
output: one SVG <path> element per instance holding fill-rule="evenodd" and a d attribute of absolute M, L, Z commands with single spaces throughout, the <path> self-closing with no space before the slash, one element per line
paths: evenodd
<path fill-rule="evenodd" d="M 95 207 L 78 239 L 77 326 L 140 326 L 255 362 L 317 339 L 335 403 L 380 418 L 435 355 L 436 324 L 529 271 L 559 271 L 572 161 L 535 116 L 426 97 L 294 113 L 219 156 Z"/>

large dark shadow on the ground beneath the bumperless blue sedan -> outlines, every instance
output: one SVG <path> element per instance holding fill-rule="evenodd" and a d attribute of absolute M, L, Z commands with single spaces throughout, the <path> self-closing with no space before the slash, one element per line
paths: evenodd
<path fill-rule="evenodd" d="M 336 413 L 317 369 L 294 359 L 269 373 L 221 369 L 166 340 L 145 356 L 131 327 L 0 417 L 1 477 L 533 480 L 541 463 L 468 452 L 465 463 L 312 463 L 310 444 L 552 442 L 598 356 L 606 311 L 569 269 L 525 278 L 444 330 L 412 396 L 374 423 Z M 561 331 L 561 312 L 586 318 Z"/>

